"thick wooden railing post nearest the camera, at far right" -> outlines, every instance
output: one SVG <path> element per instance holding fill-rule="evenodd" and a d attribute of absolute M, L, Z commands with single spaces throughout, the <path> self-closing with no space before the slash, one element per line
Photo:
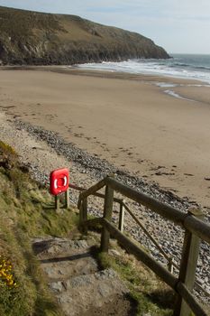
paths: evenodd
<path fill-rule="evenodd" d="M 189 209 L 188 215 L 203 219 L 201 209 Z M 200 238 L 186 229 L 178 280 L 192 292 L 196 279 L 196 264 L 199 255 Z M 187 303 L 178 295 L 173 316 L 189 316 L 191 313 Z"/>

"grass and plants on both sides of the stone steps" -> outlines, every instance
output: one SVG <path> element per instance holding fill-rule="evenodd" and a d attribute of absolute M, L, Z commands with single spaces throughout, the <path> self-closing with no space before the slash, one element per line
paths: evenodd
<path fill-rule="evenodd" d="M 59 215 L 46 188 L 32 181 L 14 149 L 0 142 L 0 315 L 59 316 L 32 239 L 46 235 L 74 235 L 78 212 L 63 209 Z M 78 234 L 77 234 L 78 235 Z M 96 233 L 92 234 L 99 238 Z M 113 267 L 131 291 L 136 315 L 172 315 L 174 296 L 166 284 L 112 241 L 110 255 L 96 251 L 103 268 Z"/>

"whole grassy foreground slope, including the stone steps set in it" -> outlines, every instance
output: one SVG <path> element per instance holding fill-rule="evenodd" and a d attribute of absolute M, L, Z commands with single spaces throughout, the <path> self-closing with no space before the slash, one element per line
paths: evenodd
<path fill-rule="evenodd" d="M 99 253 L 100 236 L 78 232 L 78 210 L 56 212 L 2 141 L 0 211 L 0 315 L 171 315 L 169 288 L 114 241 Z"/>

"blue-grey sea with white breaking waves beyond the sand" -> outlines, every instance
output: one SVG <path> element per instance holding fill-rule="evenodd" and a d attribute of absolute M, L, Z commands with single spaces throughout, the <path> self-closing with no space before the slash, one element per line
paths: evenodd
<path fill-rule="evenodd" d="M 210 84 L 210 55 L 170 54 L 168 60 L 140 59 L 120 62 L 103 61 L 77 65 L 79 69 L 105 70 L 133 74 L 196 79 Z"/>

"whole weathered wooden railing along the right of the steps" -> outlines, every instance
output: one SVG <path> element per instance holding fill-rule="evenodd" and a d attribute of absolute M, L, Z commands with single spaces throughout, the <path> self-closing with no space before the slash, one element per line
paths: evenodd
<path fill-rule="evenodd" d="M 97 192 L 103 187 L 105 187 L 105 195 Z M 133 243 L 130 238 L 123 235 L 123 208 L 132 215 L 132 218 L 137 223 L 139 222 L 139 219 L 132 214 L 132 211 L 128 207 L 126 207 L 123 200 L 114 198 L 114 191 L 118 191 L 125 197 L 135 200 L 137 203 L 153 210 L 163 218 L 167 218 L 185 229 L 178 277 L 142 250 L 141 247 Z M 90 195 L 96 195 L 105 199 L 103 218 L 87 219 L 87 198 Z M 120 229 L 114 227 L 111 222 L 114 201 L 121 203 L 119 220 Z M 196 278 L 196 263 L 199 253 L 200 239 L 203 239 L 210 244 L 210 225 L 204 222 L 204 215 L 200 209 L 190 209 L 187 213 L 184 213 L 116 181 L 114 176 L 108 176 L 104 180 L 97 182 L 87 191 L 81 191 L 78 198 L 78 209 L 81 227 L 87 229 L 89 226 L 98 223 L 101 224 L 101 250 L 103 252 L 108 251 L 111 234 L 112 237 L 118 240 L 129 253 L 136 256 L 136 258 L 142 261 L 144 265 L 147 265 L 155 274 L 159 275 L 165 283 L 169 284 L 169 286 L 177 293 L 177 302 L 173 313 L 174 316 L 188 316 L 190 311 L 193 311 L 196 316 L 207 316 L 199 302 L 196 301 L 194 295 L 191 293 Z M 157 244 L 156 246 L 158 246 L 162 255 L 168 260 L 171 260 L 168 255 L 163 252 L 154 238 L 152 241 L 155 245 Z M 174 264 L 172 263 L 172 265 Z"/>

